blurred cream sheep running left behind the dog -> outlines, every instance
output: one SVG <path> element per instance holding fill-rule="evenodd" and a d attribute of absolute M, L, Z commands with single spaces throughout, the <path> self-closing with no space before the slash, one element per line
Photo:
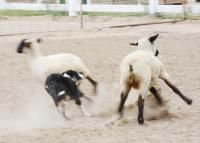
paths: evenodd
<path fill-rule="evenodd" d="M 89 69 L 83 61 L 68 53 L 43 56 L 39 44 L 41 39 L 23 39 L 17 47 L 17 53 L 27 55 L 27 61 L 32 73 L 42 82 L 52 73 L 63 73 L 67 70 L 74 70 L 82 73 L 83 76 L 93 85 L 94 92 L 97 89 L 97 81 L 91 77 Z"/>

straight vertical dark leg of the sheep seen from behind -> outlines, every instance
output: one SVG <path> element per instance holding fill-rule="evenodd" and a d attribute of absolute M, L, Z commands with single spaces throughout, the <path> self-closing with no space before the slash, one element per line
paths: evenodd
<path fill-rule="evenodd" d="M 144 99 L 142 99 L 142 96 L 139 95 L 138 97 L 138 122 L 139 124 L 144 123 Z"/>

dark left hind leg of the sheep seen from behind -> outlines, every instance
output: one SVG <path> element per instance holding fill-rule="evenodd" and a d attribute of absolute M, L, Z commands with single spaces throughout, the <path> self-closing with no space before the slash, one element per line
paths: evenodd
<path fill-rule="evenodd" d="M 127 86 L 121 92 L 121 100 L 120 100 L 120 104 L 119 104 L 119 107 L 118 107 L 118 113 L 120 114 L 120 118 L 123 117 L 124 104 L 125 104 L 125 101 L 127 99 L 127 96 L 129 94 L 130 90 L 131 90 L 131 86 Z"/>

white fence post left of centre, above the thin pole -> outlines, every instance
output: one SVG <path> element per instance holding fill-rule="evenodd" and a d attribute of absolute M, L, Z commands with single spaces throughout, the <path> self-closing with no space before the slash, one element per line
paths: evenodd
<path fill-rule="evenodd" d="M 79 0 L 68 0 L 69 16 L 77 16 L 77 8 L 79 5 Z"/>

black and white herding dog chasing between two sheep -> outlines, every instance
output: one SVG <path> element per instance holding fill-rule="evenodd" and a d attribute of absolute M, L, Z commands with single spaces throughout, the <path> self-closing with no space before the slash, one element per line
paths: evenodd
<path fill-rule="evenodd" d="M 91 114 L 85 111 L 80 100 L 80 97 L 85 97 L 87 100 L 92 101 L 78 88 L 82 77 L 76 71 L 69 70 L 62 74 L 51 74 L 46 79 L 46 91 L 53 98 L 58 111 L 67 119 L 70 119 L 70 116 L 65 112 L 65 101 L 68 100 L 75 100 L 75 103 L 81 108 L 82 113 L 85 116 L 91 116 Z"/>

